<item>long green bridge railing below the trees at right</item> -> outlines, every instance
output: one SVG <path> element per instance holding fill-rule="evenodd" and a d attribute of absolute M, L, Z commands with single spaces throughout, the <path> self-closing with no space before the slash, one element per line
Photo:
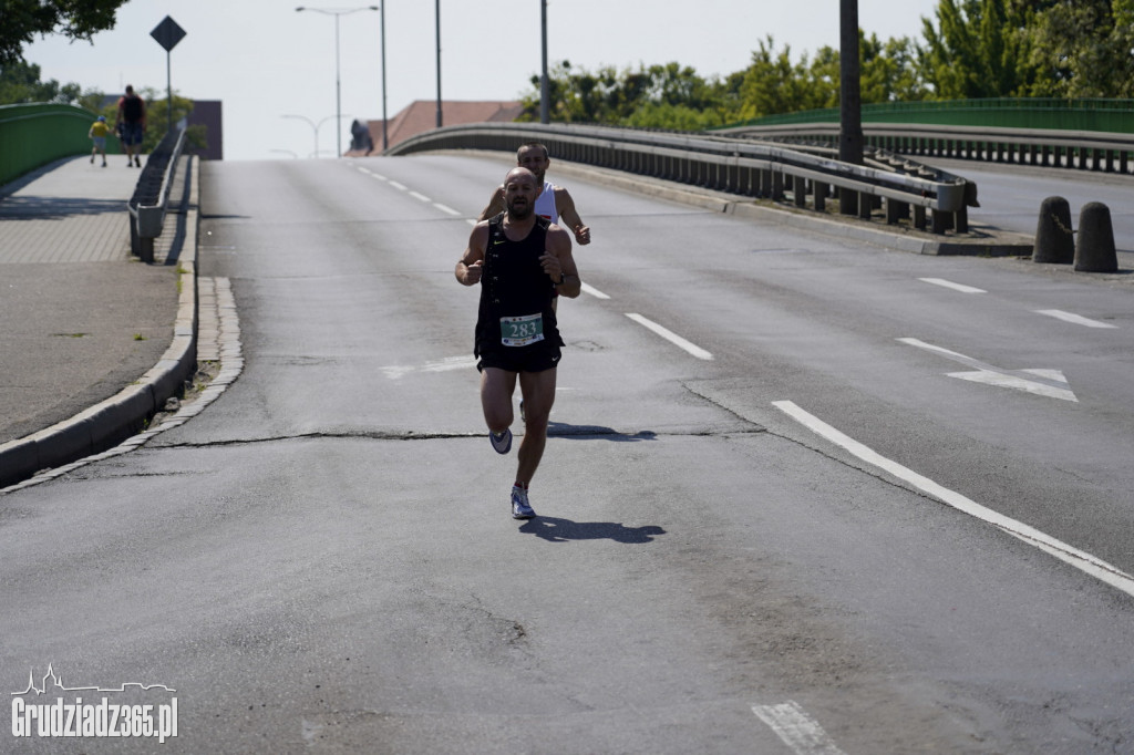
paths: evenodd
<path fill-rule="evenodd" d="M 1134 134 L 1134 100 L 990 97 L 940 102 L 882 102 L 862 107 L 864 124 L 926 124 Z M 838 122 L 838 108 L 756 118 L 738 126 Z"/>

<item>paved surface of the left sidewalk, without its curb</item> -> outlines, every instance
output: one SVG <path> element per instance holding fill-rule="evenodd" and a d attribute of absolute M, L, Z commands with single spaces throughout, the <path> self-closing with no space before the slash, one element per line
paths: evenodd
<path fill-rule="evenodd" d="M 0 187 L 0 480 L 5 444 L 137 384 L 184 320 L 171 240 L 186 219 L 167 215 L 153 264 L 133 257 L 126 204 L 141 171 L 115 158 L 61 160 Z"/>

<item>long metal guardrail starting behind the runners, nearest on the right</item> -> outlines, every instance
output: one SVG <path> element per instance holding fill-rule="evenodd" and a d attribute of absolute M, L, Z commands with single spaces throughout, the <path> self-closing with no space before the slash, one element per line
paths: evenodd
<path fill-rule="evenodd" d="M 695 185 L 742 196 L 785 201 L 826 212 L 835 201 L 839 212 L 871 219 L 885 204 L 887 223 L 911 219 L 942 234 L 967 232 L 967 207 L 975 205 L 975 186 L 964 178 L 908 160 L 854 166 L 823 149 L 789 147 L 729 136 L 675 134 L 602 126 L 475 124 L 418 134 L 387 154 L 432 150 L 499 150 L 514 152 L 539 141 L 553 156 L 600 168 Z M 931 222 L 928 222 L 928 217 Z"/>

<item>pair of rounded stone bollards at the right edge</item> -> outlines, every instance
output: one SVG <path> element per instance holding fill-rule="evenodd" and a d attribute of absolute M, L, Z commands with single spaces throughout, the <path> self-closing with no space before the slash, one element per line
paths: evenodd
<path fill-rule="evenodd" d="M 1049 196 L 1040 205 L 1032 262 L 1072 264 L 1080 272 L 1118 272 L 1110 209 L 1101 202 L 1083 205 L 1078 238 L 1070 224 L 1070 205 L 1061 196 Z"/>

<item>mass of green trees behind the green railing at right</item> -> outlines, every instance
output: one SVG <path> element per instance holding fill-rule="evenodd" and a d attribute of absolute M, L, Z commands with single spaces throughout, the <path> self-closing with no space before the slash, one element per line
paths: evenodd
<path fill-rule="evenodd" d="M 860 32 L 862 101 L 1134 97 L 1134 0 L 940 0 L 922 39 Z M 839 51 L 793 56 L 771 36 L 747 68 L 704 78 L 678 62 L 550 71 L 551 118 L 697 130 L 776 113 L 835 108 Z M 539 117 L 540 80 L 523 95 Z"/>

